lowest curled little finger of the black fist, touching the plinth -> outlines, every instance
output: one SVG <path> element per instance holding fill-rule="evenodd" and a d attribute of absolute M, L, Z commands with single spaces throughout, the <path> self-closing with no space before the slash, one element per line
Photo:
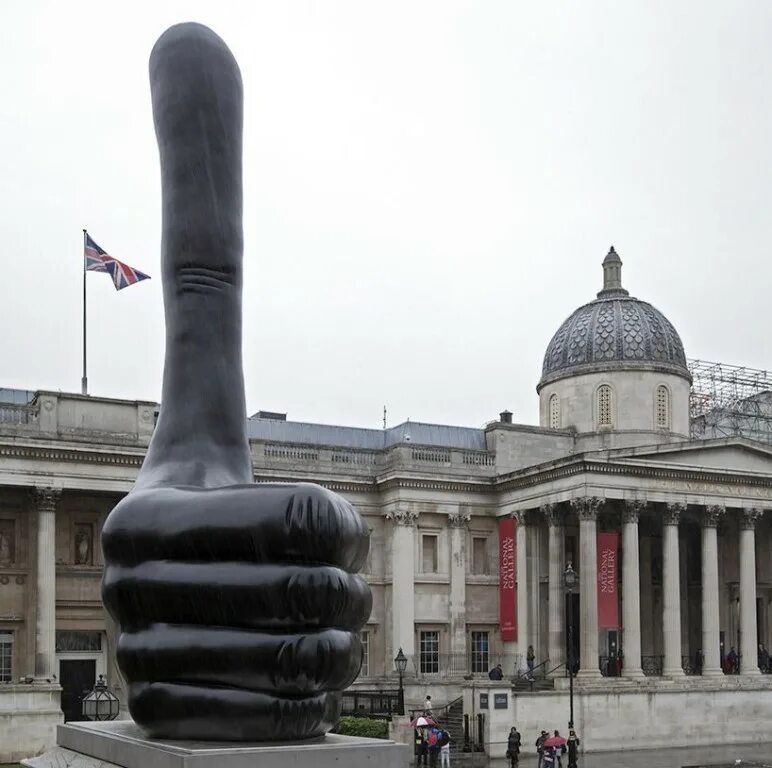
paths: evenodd
<path fill-rule="evenodd" d="M 288 741 L 321 736 L 340 717 L 341 695 L 280 697 L 234 688 L 132 683 L 129 711 L 151 737 Z"/>

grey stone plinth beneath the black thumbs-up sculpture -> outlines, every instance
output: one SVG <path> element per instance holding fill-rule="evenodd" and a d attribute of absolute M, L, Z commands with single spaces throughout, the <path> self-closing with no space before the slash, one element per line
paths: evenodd
<path fill-rule="evenodd" d="M 409 747 L 383 739 L 327 734 L 308 741 L 214 742 L 148 739 L 131 720 L 68 723 L 56 749 L 29 768 L 407 768 Z"/>

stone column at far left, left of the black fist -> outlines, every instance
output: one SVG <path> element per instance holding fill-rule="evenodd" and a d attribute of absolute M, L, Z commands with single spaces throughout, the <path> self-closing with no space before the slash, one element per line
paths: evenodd
<path fill-rule="evenodd" d="M 56 504 L 62 492 L 35 488 L 37 512 L 37 629 L 35 680 L 51 682 L 56 674 Z"/>

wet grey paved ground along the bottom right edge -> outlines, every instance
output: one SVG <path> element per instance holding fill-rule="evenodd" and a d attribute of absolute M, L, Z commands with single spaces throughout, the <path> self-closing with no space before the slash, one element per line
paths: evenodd
<path fill-rule="evenodd" d="M 708 768 L 731 766 L 736 760 L 748 765 L 772 768 L 772 742 L 750 746 L 694 747 L 689 749 L 631 750 L 583 755 L 579 768 Z M 565 768 L 567 761 L 563 761 Z M 489 768 L 506 768 L 507 760 L 491 760 Z M 456 768 L 462 768 L 459 760 Z M 522 756 L 520 768 L 536 768 L 536 757 Z"/>

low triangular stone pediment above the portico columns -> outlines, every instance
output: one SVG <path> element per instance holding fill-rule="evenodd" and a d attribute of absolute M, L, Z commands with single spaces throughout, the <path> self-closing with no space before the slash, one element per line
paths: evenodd
<path fill-rule="evenodd" d="M 772 475 L 772 446 L 744 439 L 692 440 L 620 451 L 613 461 Z"/>

